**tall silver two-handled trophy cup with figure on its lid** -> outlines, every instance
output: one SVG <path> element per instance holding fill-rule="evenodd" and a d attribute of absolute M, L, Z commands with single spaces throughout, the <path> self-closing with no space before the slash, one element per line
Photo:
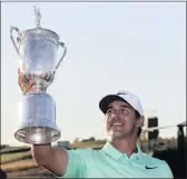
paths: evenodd
<path fill-rule="evenodd" d="M 35 8 L 35 14 L 37 28 L 23 32 L 16 27 L 10 29 L 10 38 L 20 59 L 19 68 L 24 74 L 24 81 L 33 81 L 33 90 L 23 95 L 20 123 L 14 137 L 24 143 L 42 145 L 53 142 L 60 137 L 56 125 L 56 103 L 47 93 L 47 88 L 52 83 L 67 50 L 56 32 L 41 28 L 39 9 Z M 12 36 L 13 30 L 18 33 L 17 38 Z M 58 60 L 59 47 L 63 52 Z"/>

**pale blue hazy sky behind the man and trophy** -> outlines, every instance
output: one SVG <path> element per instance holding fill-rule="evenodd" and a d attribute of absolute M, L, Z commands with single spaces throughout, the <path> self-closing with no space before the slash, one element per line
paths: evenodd
<path fill-rule="evenodd" d="M 99 100 L 118 90 L 139 96 L 147 116 L 159 126 L 186 120 L 185 2 L 2 2 L 1 142 L 18 142 L 18 54 L 10 26 L 32 29 L 33 6 L 41 27 L 53 30 L 67 56 L 48 92 L 57 103 L 59 140 L 107 138 Z M 60 49 L 59 49 L 60 54 Z M 176 128 L 160 131 L 173 137 Z"/>

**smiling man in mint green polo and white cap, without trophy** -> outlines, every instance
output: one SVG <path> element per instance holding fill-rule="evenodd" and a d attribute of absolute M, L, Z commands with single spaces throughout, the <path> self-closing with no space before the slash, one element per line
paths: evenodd
<path fill-rule="evenodd" d="M 19 72 L 19 84 L 24 91 L 35 90 L 26 84 Z M 109 95 L 99 102 L 106 116 L 110 140 L 101 150 L 65 150 L 51 143 L 33 145 L 32 156 L 39 166 L 65 178 L 173 178 L 169 166 L 144 153 L 136 145 L 144 125 L 144 112 L 137 96 L 125 92 Z"/>

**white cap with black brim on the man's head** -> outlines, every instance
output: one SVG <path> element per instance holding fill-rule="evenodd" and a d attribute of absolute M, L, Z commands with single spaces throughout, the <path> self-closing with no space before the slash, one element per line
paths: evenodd
<path fill-rule="evenodd" d="M 128 91 L 122 91 L 122 92 L 118 92 L 118 93 L 115 93 L 115 95 L 108 95 L 108 96 L 104 97 L 99 102 L 100 110 L 104 113 L 106 113 L 108 106 L 112 101 L 117 101 L 117 100 L 127 102 L 135 110 L 137 110 L 140 116 L 144 116 L 144 110 L 142 110 L 141 103 L 139 101 L 139 98 L 136 95 L 130 93 Z"/>

